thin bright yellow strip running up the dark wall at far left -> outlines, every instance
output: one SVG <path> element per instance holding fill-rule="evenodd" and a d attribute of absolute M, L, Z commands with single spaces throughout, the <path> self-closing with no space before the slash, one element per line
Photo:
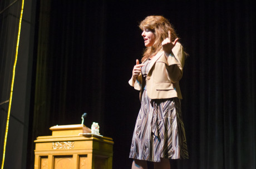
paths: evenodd
<path fill-rule="evenodd" d="M 12 105 L 12 92 L 13 92 L 13 84 L 14 84 L 14 77 L 15 77 L 15 69 L 16 69 L 16 63 L 17 63 L 17 58 L 18 58 L 19 36 L 21 34 L 21 21 L 22 21 L 23 7 L 24 7 L 24 0 L 22 0 L 21 16 L 19 17 L 19 30 L 18 30 L 18 38 L 17 38 L 15 60 L 14 60 L 14 65 L 13 65 L 12 86 L 11 86 L 11 93 L 10 93 L 10 99 L 9 99 L 9 108 L 8 108 L 8 115 L 7 115 L 7 122 L 6 122 L 6 134 L 4 136 L 3 161 L 2 161 L 1 169 L 3 169 L 4 158 L 6 156 L 6 142 L 7 142 L 8 128 L 9 128 L 9 117 L 10 117 L 11 105 Z"/>

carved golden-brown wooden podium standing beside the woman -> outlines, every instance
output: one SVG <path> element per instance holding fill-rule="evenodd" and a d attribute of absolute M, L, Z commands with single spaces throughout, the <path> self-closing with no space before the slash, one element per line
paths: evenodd
<path fill-rule="evenodd" d="M 53 126 L 35 140 L 35 169 L 110 169 L 112 138 L 92 135 L 85 125 Z"/>

